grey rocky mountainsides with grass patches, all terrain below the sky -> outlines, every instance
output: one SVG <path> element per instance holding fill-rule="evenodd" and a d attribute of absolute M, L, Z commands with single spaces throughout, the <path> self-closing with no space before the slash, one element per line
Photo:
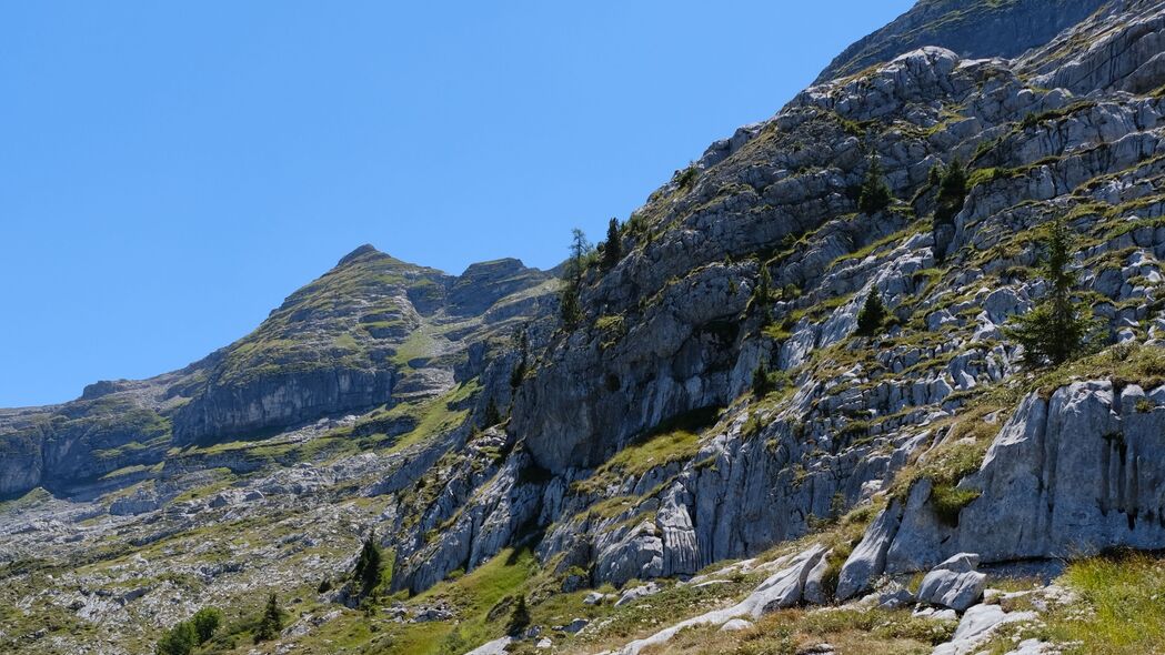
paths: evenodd
<path fill-rule="evenodd" d="M 1163 179 L 1165 1 L 922 0 L 651 193 L 578 316 L 363 246 L 0 410 L 0 652 L 218 607 L 197 653 L 1165 653 Z M 1099 321 L 1039 367 L 1057 221 Z"/>

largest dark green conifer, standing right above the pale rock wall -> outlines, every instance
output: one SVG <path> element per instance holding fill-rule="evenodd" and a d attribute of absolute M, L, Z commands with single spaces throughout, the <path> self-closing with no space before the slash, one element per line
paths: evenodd
<path fill-rule="evenodd" d="M 1004 333 L 1023 346 L 1031 366 L 1059 366 L 1080 354 L 1089 340 L 1092 311 L 1073 301 L 1076 275 L 1072 263 L 1074 239 L 1061 220 L 1055 220 L 1044 241 L 1042 268 L 1047 295 L 1028 314 L 1011 319 Z"/>

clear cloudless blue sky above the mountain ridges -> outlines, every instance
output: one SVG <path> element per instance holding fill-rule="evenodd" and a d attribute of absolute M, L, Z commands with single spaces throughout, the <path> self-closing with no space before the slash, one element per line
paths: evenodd
<path fill-rule="evenodd" d="M 3 2 L 0 407 L 184 366 L 363 242 L 553 266 L 910 5 Z"/>

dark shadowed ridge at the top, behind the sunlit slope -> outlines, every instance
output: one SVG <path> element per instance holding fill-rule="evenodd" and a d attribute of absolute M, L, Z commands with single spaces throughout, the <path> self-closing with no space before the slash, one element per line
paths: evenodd
<path fill-rule="evenodd" d="M 1051 41 L 1106 0 L 919 0 L 838 55 L 813 84 L 853 75 L 924 45 L 965 58 L 1015 57 Z"/>

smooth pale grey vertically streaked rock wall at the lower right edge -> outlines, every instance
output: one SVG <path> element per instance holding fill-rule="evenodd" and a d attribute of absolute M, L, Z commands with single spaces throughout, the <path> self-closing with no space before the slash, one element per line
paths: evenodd
<path fill-rule="evenodd" d="M 917 571 L 967 549 L 1005 562 L 1163 548 L 1165 387 L 1117 390 L 1095 380 L 1047 400 L 1032 394 L 960 486 L 980 495 L 959 524 L 904 521 L 889 538 L 887 570 Z M 932 515 L 931 502 L 929 493 L 911 494 L 904 513 Z"/>

